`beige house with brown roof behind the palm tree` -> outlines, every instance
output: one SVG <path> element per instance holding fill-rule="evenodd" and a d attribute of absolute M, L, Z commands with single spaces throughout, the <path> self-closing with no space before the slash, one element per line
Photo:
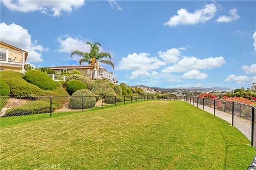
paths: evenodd
<path fill-rule="evenodd" d="M 48 67 L 49 69 L 55 70 L 57 74 L 61 72 L 73 72 L 73 69 L 78 70 L 82 75 L 92 78 L 92 69 L 90 65 L 73 65 L 73 66 L 54 66 L 54 67 Z M 117 78 L 114 76 L 112 72 L 108 72 L 103 67 L 97 67 L 97 69 L 94 70 L 94 79 L 105 79 L 111 82 L 117 81 Z"/>

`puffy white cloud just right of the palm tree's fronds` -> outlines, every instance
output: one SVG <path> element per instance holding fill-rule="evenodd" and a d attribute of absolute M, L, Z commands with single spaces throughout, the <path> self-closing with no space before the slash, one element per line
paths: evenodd
<path fill-rule="evenodd" d="M 156 57 L 150 57 L 148 53 L 133 53 L 123 57 L 118 64 L 118 70 L 154 70 L 165 65 L 165 62 Z"/>

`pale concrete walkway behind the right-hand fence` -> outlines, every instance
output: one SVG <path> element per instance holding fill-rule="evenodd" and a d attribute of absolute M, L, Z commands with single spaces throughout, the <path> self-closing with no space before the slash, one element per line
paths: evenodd
<path fill-rule="evenodd" d="M 184 101 L 184 100 L 182 100 Z M 189 103 L 189 102 L 188 102 Z M 191 105 L 193 105 L 193 101 L 191 101 Z M 194 103 L 194 106 L 197 107 L 197 103 Z M 203 109 L 203 105 L 198 104 L 198 108 Z M 214 114 L 214 109 L 208 106 L 204 106 L 204 111 L 208 112 L 210 114 Z M 232 114 L 227 112 L 218 111 L 215 109 L 215 116 L 220 117 L 222 120 L 227 121 L 228 123 L 232 124 Z M 245 118 L 239 117 L 234 115 L 234 126 L 242 132 L 247 139 L 251 141 L 251 121 L 247 120 Z M 254 128 L 254 134 L 255 134 L 255 128 Z M 255 146 L 255 136 L 254 135 L 254 146 Z"/>

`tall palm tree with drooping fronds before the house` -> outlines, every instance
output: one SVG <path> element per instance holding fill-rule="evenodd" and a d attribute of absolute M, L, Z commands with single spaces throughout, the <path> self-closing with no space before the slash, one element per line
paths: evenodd
<path fill-rule="evenodd" d="M 71 57 L 73 55 L 81 56 L 82 58 L 79 60 L 79 64 L 81 65 L 82 63 L 88 63 L 91 66 L 92 80 L 94 79 L 94 69 L 97 62 L 111 65 L 114 69 L 114 63 L 111 61 L 111 55 L 106 52 L 99 52 L 99 46 L 101 47 L 100 43 L 87 42 L 86 44 L 91 46 L 90 53 L 84 53 L 81 50 L 74 50 L 71 52 Z"/>

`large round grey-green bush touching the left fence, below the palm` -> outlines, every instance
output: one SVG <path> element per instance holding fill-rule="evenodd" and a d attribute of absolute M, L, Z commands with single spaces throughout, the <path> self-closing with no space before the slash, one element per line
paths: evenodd
<path fill-rule="evenodd" d="M 83 98 L 76 96 L 84 96 L 84 106 Z M 74 92 L 72 97 L 69 100 L 68 106 L 71 109 L 82 109 L 82 108 L 91 108 L 96 104 L 96 98 L 93 96 L 90 90 L 82 89 Z"/>

